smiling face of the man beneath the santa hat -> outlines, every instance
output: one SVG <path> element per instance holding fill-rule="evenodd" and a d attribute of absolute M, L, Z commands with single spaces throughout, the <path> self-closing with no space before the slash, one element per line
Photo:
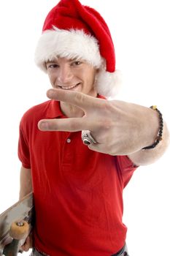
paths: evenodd
<path fill-rule="evenodd" d="M 96 97 L 96 69 L 85 61 L 57 58 L 46 64 L 53 88 L 80 91 Z"/>

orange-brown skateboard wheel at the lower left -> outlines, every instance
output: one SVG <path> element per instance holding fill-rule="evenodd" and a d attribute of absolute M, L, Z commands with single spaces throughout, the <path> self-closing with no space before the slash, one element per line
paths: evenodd
<path fill-rule="evenodd" d="M 20 225 L 20 223 L 22 224 Z M 9 236 L 11 236 L 14 239 L 21 240 L 28 236 L 28 231 L 28 222 L 24 220 L 22 222 L 12 222 L 12 225 L 9 230 Z"/>

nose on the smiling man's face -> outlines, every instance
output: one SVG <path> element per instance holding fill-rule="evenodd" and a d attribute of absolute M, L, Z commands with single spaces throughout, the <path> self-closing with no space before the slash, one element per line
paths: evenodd
<path fill-rule="evenodd" d="M 67 64 L 60 66 L 58 70 L 58 83 L 59 85 L 69 84 L 72 81 L 73 73 L 71 67 Z"/>

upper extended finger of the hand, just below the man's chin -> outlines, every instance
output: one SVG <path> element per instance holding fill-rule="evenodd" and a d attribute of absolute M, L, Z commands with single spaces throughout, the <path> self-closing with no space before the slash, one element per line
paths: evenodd
<path fill-rule="evenodd" d="M 66 91 L 62 89 L 50 89 L 47 91 L 47 97 L 61 102 L 67 102 L 85 112 L 101 106 L 103 100 L 96 97 L 91 97 L 87 94 L 82 94 L 80 91 Z"/>

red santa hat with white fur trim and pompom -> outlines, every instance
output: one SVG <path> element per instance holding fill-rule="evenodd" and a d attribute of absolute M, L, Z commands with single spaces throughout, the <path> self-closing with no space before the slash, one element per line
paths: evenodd
<path fill-rule="evenodd" d="M 93 8 L 78 0 L 61 0 L 47 15 L 36 46 L 36 64 L 45 72 L 55 56 L 83 59 L 99 69 L 98 94 L 114 97 L 120 84 L 115 48 L 107 23 Z"/>

